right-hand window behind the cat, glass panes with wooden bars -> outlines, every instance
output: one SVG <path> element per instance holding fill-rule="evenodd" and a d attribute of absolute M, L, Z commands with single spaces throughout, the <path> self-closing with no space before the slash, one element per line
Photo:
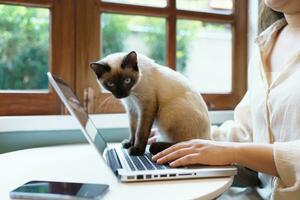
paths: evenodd
<path fill-rule="evenodd" d="M 99 9 L 101 57 L 141 52 L 185 75 L 211 110 L 232 109 L 243 96 L 247 1 L 99 0 Z M 120 110 L 113 98 L 96 104 L 96 112 Z"/>

